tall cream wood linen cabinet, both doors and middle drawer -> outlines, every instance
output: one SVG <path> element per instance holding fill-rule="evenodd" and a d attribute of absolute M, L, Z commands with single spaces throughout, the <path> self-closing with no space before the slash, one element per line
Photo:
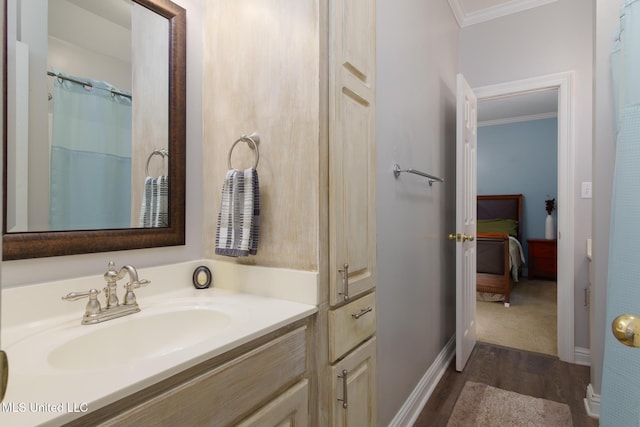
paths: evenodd
<path fill-rule="evenodd" d="M 330 424 L 375 426 L 375 0 L 329 12 Z"/>

